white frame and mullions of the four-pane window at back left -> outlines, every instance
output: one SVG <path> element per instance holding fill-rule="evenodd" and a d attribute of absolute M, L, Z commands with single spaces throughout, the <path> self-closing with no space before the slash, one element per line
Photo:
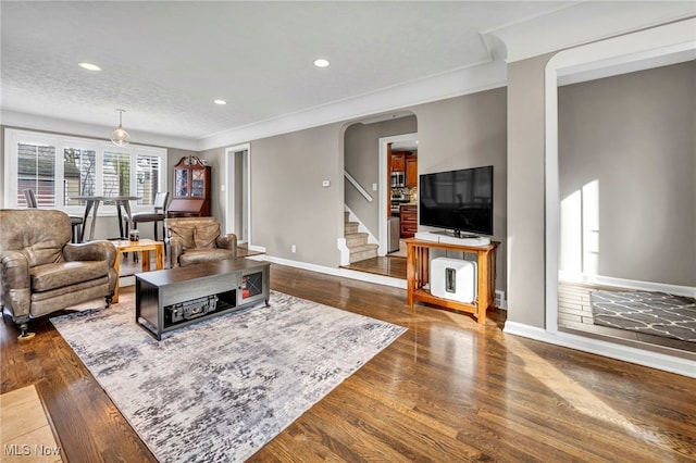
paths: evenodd
<path fill-rule="evenodd" d="M 110 141 L 77 137 L 60 134 L 49 134 L 38 130 L 4 128 L 4 189 L 3 189 L 3 208 L 17 209 L 21 205 L 17 197 L 21 191 L 18 188 L 18 143 L 48 145 L 55 147 L 55 184 L 61 185 L 65 179 L 64 158 L 65 149 L 78 148 L 82 150 L 95 150 L 96 152 L 96 172 L 95 172 L 95 195 L 101 196 L 103 188 L 103 160 L 104 152 L 124 153 L 130 158 L 129 165 L 129 196 L 137 196 L 137 160 L 139 155 L 159 158 L 159 178 L 158 191 L 167 191 L 169 174 L 167 174 L 167 150 L 166 148 L 150 147 L 145 145 L 128 145 L 126 147 L 117 147 Z M 84 204 L 80 205 L 61 205 L 63 201 L 63 189 L 55 188 L 55 207 L 53 209 L 63 211 L 67 214 L 83 214 L 85 212 Z M 150 211 L 151 204 L 140 204 L 140 201 L 132 201 L 130 209 L 137 211 Z M 99 216 L 116 215 L 115 207 L 107 205 L 99 208 Z"/>

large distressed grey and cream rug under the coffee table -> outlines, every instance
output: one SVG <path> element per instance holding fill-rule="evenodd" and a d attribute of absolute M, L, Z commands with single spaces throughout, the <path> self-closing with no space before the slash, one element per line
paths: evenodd
<path fill-rule="evenodd" d="M 244 461 L 406 328 L 271 292 L 157 341 L 132 304 L 51 322 L 161 462 Z"/>

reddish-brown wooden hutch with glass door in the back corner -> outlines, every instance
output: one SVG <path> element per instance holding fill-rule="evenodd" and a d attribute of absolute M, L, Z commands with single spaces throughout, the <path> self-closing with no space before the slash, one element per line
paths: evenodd
<path fill-rule="evenodd" d="M 211 168 L 196 157 L 184 157 L 174 166 L 174 191 L 170 217 L 210 216 Z"/>

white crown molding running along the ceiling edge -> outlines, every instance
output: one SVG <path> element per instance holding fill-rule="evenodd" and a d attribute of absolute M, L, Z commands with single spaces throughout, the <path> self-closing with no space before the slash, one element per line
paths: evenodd
<path fill-rule="evenodd" d="M 482 32 L 481 38 L 489 50 L 489 61 L 198 139 L 126 129 L 132 139 L 140 145 L 192 151 L 239 145 L 504 87 L 507 85 L 506 63 L 696 16 L 696 2 L 691 1 L 647 1 L 641 2 L 641 8 L 625 7 L 626 2 L 620 1 L 564 3 L 547 14 L 530 16 Z M 0 123 L 18 128 L 78 134 L 100 139 L 108 139 L 114 128 L 7 110 L 0 112 Z"/>

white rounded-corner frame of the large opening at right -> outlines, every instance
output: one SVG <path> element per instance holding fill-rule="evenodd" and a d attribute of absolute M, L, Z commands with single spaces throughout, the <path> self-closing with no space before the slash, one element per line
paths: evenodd
<path fill-rule="evenodd" d="M 691 33 L 691 35 L 689 35 Z M 688 37 L 688 39 L 687 39 Z M 682 41 L 683 40 L 683 41 Z M 648 45 L 649 43 L 649 45 Z M 683 45 L 686 43 L 686 45 Z M 680 58 L 685 48 L 693 52 L 693 24 L 674 23 L 656 29 L 642 30 L 620 38 L 564 50 L 556 54 L 545 70 L 545 259 L 546 259 L 546 327 L 545 335 L 537 337 L 551 343 L 600 353 L 606 356 L 633 362 L 639 365 L 666 370 L 679 374 L 693 375 L 693 354 L 668 347 L 645 349 L 645 342 L 627 342 L 625 339 L 607 338 L 604 335 L 581 330 L 571 333 L 559 329 L 559 296 L 569 291 L 579 292 L 576 287 L 567 288 L 559 281 L 559 253 L 561 237 L 561 196 L 559 191 L 558 155 L 558 86 L 559 78 L 592 68 L 607 67 L 611 62 L 639 61 L 661 55 Z M 630 58 L 629 58 L 630 57 Z M 648 60 L 649 61 L 649 60 Z M 597 64 L 599 63 L 599 64 Z M 664 61 L 662 61 L 664 64 Z M 610 68 L 610 67 L 608 67 Z M 634 67 L 636 71 L 638 67 Z M 597 289 L 595 285 L 584 285 L 582 291 Z M 581 295 L 582 296 L 582 295 Z M 564 316 L 561 313 L 561 316 Z M 513 333 L 512 330 L 510 333 Z M 679 354 L 675 354 L 679 352 Z"/>

